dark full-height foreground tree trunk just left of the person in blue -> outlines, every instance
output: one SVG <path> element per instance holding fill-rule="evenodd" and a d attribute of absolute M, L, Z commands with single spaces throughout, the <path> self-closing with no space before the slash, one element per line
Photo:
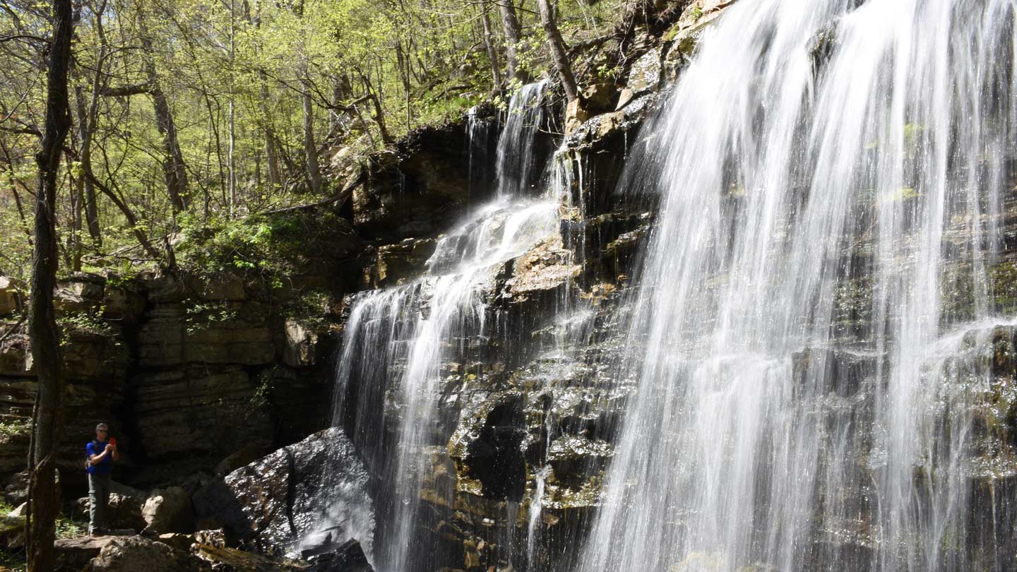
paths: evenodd
<path fill-rule="evenodd" d="M 39 380 L 32 435 L 32 475 L 27 526 L 28 570 L 50 572 L 55 565 L 53 540 L 60 494 L 56 480 L 56 445 L 63 431 L 63 361 L 53 307 L 57 275 L 57 171 L 64 139 L 70 130 L 67 70 L 70 67 L 70 0 L 53 0 L 53 39 L 47 74 L 46 131 L 36 155 L 39 180 L 36 191 L 35 264 L 28 337 Z"/>

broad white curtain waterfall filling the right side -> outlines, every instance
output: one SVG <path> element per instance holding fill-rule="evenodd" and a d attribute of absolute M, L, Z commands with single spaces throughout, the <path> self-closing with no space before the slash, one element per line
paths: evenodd
<path fill-rule="evenodd" d="M 661 211 L 583 572 L 1012 569 L 969 507 L 1017 474 L 974 422 L 1014 33 L 1003 0 L 758 0 L 704 34 L 632 161 Z"/>

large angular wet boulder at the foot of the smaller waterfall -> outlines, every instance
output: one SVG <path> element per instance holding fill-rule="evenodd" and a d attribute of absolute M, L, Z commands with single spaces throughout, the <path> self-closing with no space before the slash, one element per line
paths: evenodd
<path fill-rule="evenodd" d="M 194 511 L 200 527 L 223 526 L 264 552 L 349 538 L 369 550 L 374 508 L 367 483 L 352 443 L 334 427 L 213 481 L 194 495 Z"/>

